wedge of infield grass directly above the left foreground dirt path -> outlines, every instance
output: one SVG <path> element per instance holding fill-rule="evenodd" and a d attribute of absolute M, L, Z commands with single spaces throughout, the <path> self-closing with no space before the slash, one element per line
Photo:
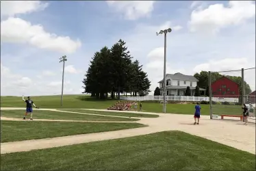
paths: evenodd
<path fill-rule="evenodd" d="M 145 127 L 138 123 L 21 122 L 1 120 L 1 143 Z M 29 144 L 28 144 L 29 145 Z"/>

